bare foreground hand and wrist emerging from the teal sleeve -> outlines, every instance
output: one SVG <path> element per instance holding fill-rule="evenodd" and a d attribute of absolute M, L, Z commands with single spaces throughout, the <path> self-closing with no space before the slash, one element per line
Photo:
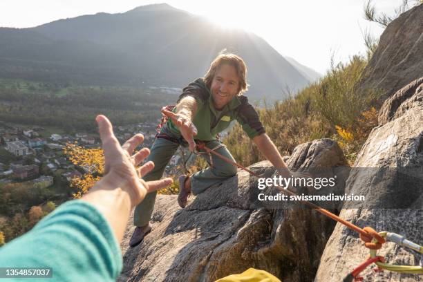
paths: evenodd
<path fill-rule="evenodd" d="M 144 137 L 137 134 L 120 147 L 113 134 L 111 122 L 104 115 L 97 116 L 96 120 L 104 150 L 105 176 L 95 183 L 82 200 L 91 203 L 104 215 L 120 242 L 131 209 L 149 192 L 166 187 L 172 181 L 170 178 L 151 182 L 142 180 L 141 176 L 154 167 L 153 162 L 147 162 L 142 167 L 135 168 L 150 153 L 149 149 L 144 148 L 132 155 Z"/>

